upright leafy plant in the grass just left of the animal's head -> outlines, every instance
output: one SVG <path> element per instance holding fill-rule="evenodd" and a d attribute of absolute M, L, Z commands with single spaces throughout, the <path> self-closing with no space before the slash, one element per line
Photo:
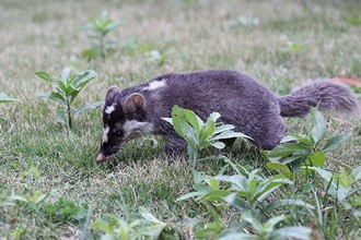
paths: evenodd
<path fill-rule="evenodd" d="M 51 84 L 53 89 L 50 93 L 42 93 L 38 95 L 47 100 L 54 100 L 62 107 L 62 110 L 58 110 L 57 112 L 57 119 L 65 123 L 67 116 L 69 129 L 72 127 L 73 117 L 77 117 L 77 115 L 84 110 L 97 108 L 103 104 L 103 101 L 95 101 L 82 105 L 78 108 L 72 107 L 79 93 L 95 77 L 95 71 L 93 70 L 71 74 L 71 68 L 66 67 L 60 77 L 51 76 L 47 72 L 36 72 L 35 74 Z"/>

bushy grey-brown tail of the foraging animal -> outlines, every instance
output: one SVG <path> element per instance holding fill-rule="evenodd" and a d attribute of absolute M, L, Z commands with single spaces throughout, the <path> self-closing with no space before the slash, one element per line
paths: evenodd
<path fill-rule="evenodd" d="M 322 111 L 360 115 L 360 103 L 351 89 L 331 80 L 310 82 L 279 97 L 282 117 L 305 116 L 311 107 L 318 106 Z"/>

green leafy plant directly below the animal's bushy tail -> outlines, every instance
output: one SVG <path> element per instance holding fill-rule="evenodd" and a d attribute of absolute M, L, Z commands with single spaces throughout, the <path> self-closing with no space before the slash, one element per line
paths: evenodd
<path fill-rule="evenodd" d="M 268 153 L 269 169 L 290 176 L 292 171 L 300 171 L 301 166 L 323 167 L 326 153 L 338 148 L 350 137 L 350 133 L 342 133 L 325 140 L 326 120 L 316 108 L 311 109 L 311 120 L 310 132 L 288 134 L 282 140 L 282 144 Z"/>

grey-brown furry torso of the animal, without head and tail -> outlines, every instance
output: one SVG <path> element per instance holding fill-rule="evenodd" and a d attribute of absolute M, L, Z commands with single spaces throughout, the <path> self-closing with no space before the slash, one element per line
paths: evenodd
<path fill-rule="evenodd" d="M 174 105 L 194 110 L 202 119 L 217 111 L 222 122 L 233 124 L 265 149 L 275 147 L 284 134 L 277 97 L 246 74 L 211 70 L 166 74 L 154 81 L 165 84 L 151 92 L 150 116 L 167 117 Z"/>

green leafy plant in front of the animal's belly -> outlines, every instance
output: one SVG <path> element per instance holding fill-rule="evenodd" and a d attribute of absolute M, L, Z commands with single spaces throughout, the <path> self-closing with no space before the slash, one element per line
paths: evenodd
<path fill-rule="evenodd" d="M 218 149 L 224 148 L 225 144 L 222 140 L 234 137 L 249 139 L 243 133 L 234 132 L 234 125 L 217 122 L 220 117 L 220 113 L 213 112 L 205 122 L 194 111 L 175 105 L 172 108 L 172 118 L 163 119 L 173 124 L 176 133 L 187 142 L 188 157 L 195 164 L 201 149 L 209 146 Z"/>

